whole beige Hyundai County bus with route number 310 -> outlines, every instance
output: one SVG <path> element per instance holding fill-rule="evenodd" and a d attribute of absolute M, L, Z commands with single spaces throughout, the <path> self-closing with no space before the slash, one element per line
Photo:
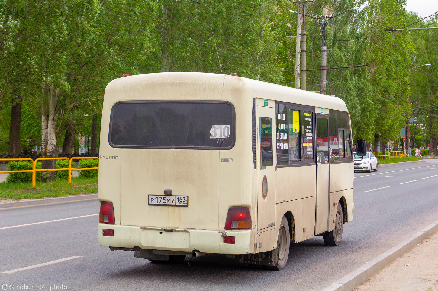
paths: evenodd
<path fill-rule="evenodd" d="M 365 145 L 366 146 L 366 145 Z M 240 76 L 152 73 L 105 90 L 99 244 L 152 262 L 226 254 L 281 270 L 353 217 L 343 100 Z"/>

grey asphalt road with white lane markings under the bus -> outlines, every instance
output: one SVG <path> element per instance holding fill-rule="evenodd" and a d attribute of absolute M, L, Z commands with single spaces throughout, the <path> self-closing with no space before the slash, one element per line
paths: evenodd
<path fill-rule="evenodd" d="M 356 173 L 353 221 L 344 225 L 341 245 L 325 246 L 322 237 L 291 244 L 282 271 L 220 255 L 171 265 L 111 252 L 97 243 L 97 200 L 7 208 L 0 210 L 0 284 L 3 290 L 322 290 L 438 220 L 437 182 L 438 159 Z M 64 218 L 72 219 L 58 220 Z M 17 225 L 23 226 L 8 228 Z"/>

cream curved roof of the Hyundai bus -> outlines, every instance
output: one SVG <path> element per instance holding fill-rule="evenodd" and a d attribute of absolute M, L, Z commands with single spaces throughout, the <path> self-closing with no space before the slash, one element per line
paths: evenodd
<path fill-rule="evenodd" d="M 236 90 L 240 90 L 241 92 L 246 91 L 245 93 L 247 94 L 244 95 L 251 96 L 251 99 L 258 97 L 287 103 L 348 111 L 346 104 L 339 97 L 318 94 L 240 76 L 198 72 L 149 73 L 117 78 L 107 85 L 105 98 L 106 101 L 110 103 L 117 102 L 120 99 L 155 99 L 153 96 L 147 96 L 149 92 L 148 87 L 175 85 L 177 87 L 190 86 L 194 88 L 196 86 L 205 86 L 206 83 L 209 84 L 208 88 L 211 90 L 220 90 L 221 92 L 225 86 L 236 87 Z M 117 93 L 113 91 L 117 91 Z M 110 92 L 113 94 L 108 94 Z M 123 94 L 124 97 L 121 97 L 120 94 Z M 127 95 L 132 96 L 132 98 Z M 114 100 L 108 100 L 113 98 Z"/>

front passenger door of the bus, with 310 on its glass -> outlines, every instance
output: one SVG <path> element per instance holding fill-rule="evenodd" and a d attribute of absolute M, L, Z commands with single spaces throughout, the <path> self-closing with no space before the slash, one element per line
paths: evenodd
<path fill-rule="evenodd" d="M 315 236 L 329 225 L 329 119 L 316 116 L 316 218 Z"/>

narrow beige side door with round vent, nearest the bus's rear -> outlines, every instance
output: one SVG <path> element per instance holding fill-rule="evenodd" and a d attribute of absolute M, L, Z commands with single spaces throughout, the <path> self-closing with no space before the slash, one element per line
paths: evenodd
<path fill-rule="evenodd" d="M 276 223 L 275 122 L 274 108 L 257 106 L 257 229 L 265 229 Z"/>

